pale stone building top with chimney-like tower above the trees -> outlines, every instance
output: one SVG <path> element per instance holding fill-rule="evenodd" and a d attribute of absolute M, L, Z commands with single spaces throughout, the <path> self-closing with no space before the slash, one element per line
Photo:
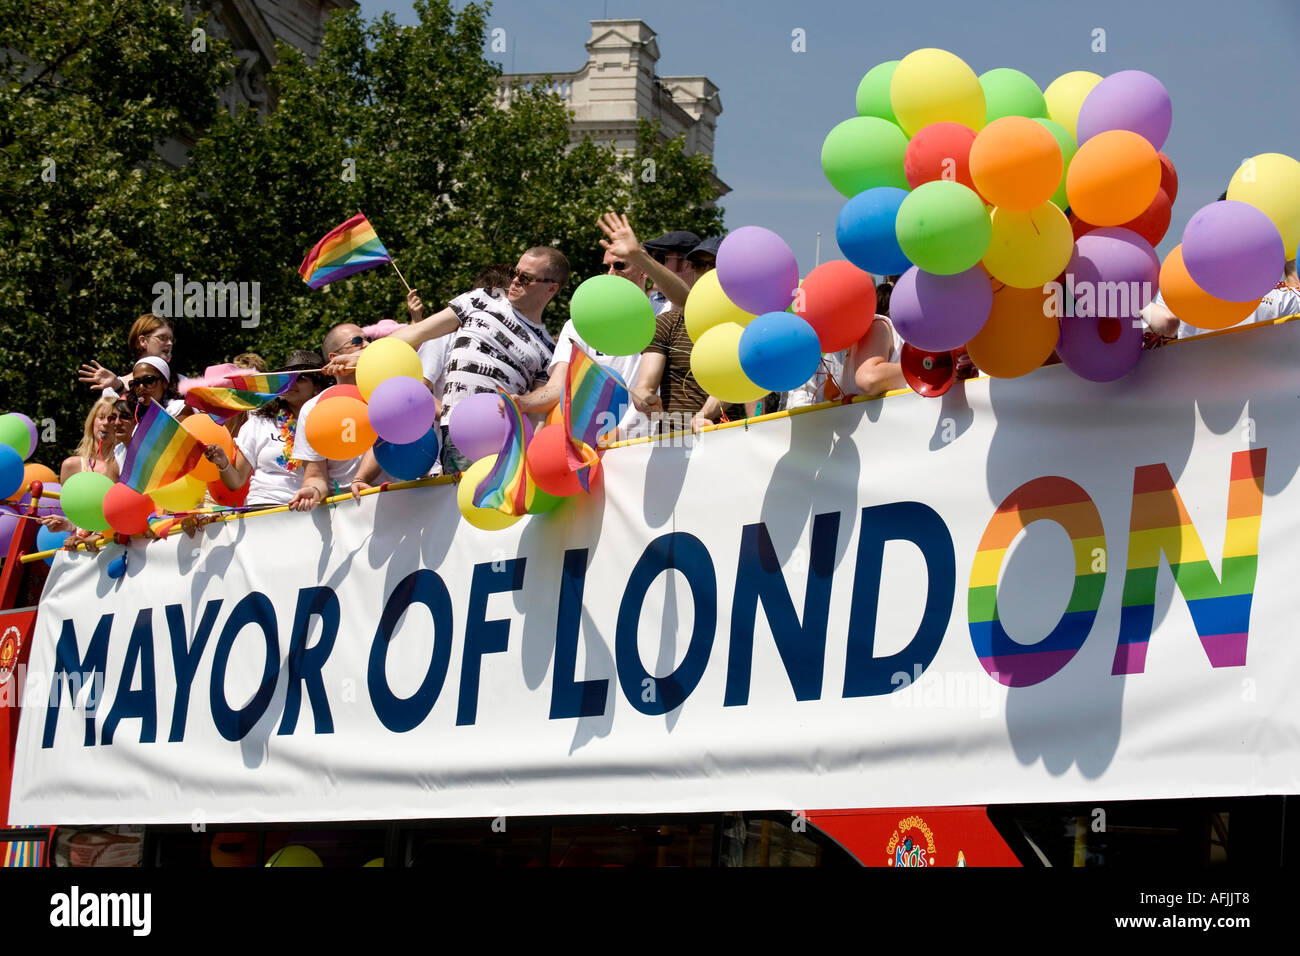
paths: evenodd
<path fill-rule="evenodd" d="M 507 73 L 499 100 L 510 101 L 511 88 L 550 83 L 572 111 L 573 142 L 590 137 L 618 150 L 636 148 L 637 121 L 658 120 L 666 138 L 685 135 L 688 153 L 714 155 L 714 133 L 723 112 L 718 87 L 705 75 L 655 74 L 659 43 L 641 20 L 593 20 L 586 42 L 586 62 L 571 73 Z M 722 196 L 731 187 L 714 176 Z"/>

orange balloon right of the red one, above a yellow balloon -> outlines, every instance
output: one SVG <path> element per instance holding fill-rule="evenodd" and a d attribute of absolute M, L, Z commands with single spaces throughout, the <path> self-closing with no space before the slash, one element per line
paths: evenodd
<path fill-rule="evenodd" d="M 984 199 L 1004 209 L 1032 209 L 1061 185 L 1065 160 L 1046 126 L 1023 116 L 1004 116 L 975 137 L 970 168 Z"/>

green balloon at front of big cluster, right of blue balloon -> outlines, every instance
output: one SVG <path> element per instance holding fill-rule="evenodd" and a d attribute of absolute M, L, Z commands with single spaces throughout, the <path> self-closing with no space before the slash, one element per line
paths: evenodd
<path fill-rule="evenodd" d="M 966 272 L 993 239 L 984 200 L 959 182 L 923 182 L 902 200 L 894 220 L 898 246 L 916 268 L 936 276 Z"/>

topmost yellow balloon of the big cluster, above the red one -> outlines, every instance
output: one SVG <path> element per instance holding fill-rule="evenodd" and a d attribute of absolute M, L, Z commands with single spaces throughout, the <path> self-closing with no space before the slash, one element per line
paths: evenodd
<path fill-rule="evenodd" d="M 916 49 L 894 68 L 889 104 L 909 137 L 932 122 L 984 127 L 984 87 L 966 61 L 946 49 Z"/>

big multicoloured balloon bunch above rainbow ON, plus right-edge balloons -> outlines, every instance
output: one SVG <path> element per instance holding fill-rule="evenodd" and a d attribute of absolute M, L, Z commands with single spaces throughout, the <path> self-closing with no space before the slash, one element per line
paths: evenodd
<path fill-rule="evenodd" d="M 1269 153 L 1234 177 L 1228 199 L 1240 202 L 1188 225 L 1187 268 L 1178 250 L 1160 268 L 1153 247 L 1178 193 L 1160 152 L 1173 105 L 1141 70 L 1066 73 L 1040 91 L 1018 70 L 976 75 L 919 49 L 871 69 L 857 109 L 822 147 L 848 199 L 840 248 L 862 269 L 901 273 L 892 319 L 910 345 L 965 346 L 989 375 L 1024 375 L 1056 350 L 1086 378 L 1118 378 L 1138 362 L 1139 313 L 1157 286 L 1179 316 L 1222 328 L 1278 280 L 1283 245 L 1295 252 L 1300 164 Z M 1184 306 L 1193 298 L 1202 311 Z"/>

